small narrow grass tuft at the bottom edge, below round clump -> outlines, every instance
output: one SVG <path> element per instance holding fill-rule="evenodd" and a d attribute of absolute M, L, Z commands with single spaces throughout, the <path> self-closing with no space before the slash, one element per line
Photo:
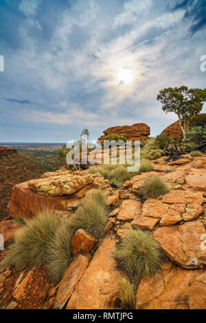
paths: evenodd
<path fill-rule="evenodd" d="M 123 309 L 134 309 L 135 291 L 128 279 L 122 278 L 122 280 L 119 281 L 119 294 Z"/>

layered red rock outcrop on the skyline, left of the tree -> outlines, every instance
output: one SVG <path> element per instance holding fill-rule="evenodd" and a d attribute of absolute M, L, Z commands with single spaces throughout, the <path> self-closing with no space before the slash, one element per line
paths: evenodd
<path fill-rule="evenodd" d="M 99 138 L 101 144 L 108 135 L 124 135 L 127 140 L 148 140 L 150 127 L 144 123 L 133 124 L 133 126 L 113 126 L 103 131 L 103 133 L 104 135 Z"/>

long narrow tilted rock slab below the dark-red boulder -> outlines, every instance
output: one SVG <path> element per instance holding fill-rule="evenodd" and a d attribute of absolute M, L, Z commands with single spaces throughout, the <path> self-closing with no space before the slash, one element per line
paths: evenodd
<path fill-rule="evenodd" d="M 88 259 L 82 255 L 72 261 L 60 281 L 54 309 L 62 309 L 65 306 L 67 300 L 69 300 L 69 297 L 78 285 L 78 282 L 84 274 L 88 264 Z"/>

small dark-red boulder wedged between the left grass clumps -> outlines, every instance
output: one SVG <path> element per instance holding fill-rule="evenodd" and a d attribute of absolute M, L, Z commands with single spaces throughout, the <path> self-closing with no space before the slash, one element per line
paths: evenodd
<path fill-rule="evenodd" d="M 72 256 L 75 256 L 76 254 L 89 254 L 94 243 L 95 238 L 92 234 L 85 232 L 83 229 L 79 229 L 76 234 L 74 234 L 71 241 Z"/>

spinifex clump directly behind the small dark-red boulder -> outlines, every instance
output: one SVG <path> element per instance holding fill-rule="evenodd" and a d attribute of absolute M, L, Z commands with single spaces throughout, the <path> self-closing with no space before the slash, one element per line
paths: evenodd
<path fill-rule="evenodd" d="M 89 234 L 98 238 L 106 224 L 106 197 L 101 190 L 88 192 L 84 197 L 82 205 L 79 206 L 73 216 L 69 219 L 73 231 L 84 229 Z"/>

